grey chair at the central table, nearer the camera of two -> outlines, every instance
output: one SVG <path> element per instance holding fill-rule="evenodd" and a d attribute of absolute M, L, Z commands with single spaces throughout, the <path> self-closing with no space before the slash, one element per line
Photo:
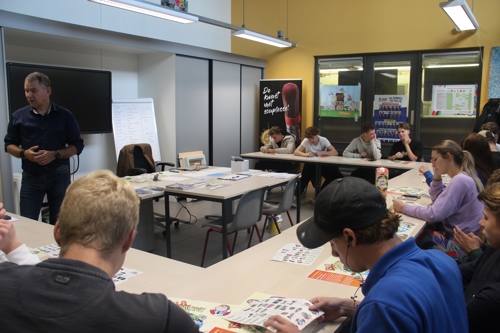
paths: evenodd
<path fill-rule="evenodd" d="M 245 229 L 252 229 L 250 233 L 250 239 L 248 240 L 248 246 L 252 242 L 252 236 L 254 230 L 257 232 L 257 237 L 259 237 L 259 242 L 262 242 L 262 236 L 257 228 L 257 222 L 262 218 L 262 207 L 264 202 L 264 194 L 266 193 L 266 188 L 260 188 L 253 191 L 246 192 L 240 198 L 238 206 L 236 207 L 235 214 L 231 217 L 230 222 L 227 224 L 227 233 L 234 233 L 233 246 L 229 246 L 229 240 L 227 240 L 227 249 L 229 255 L 232 256 L 234 253 L 234 247 L 236 245 L 236 237 L 238 236 L 238 231 Z M 205 264 L 205 255 L 207 252 L 208 238 L 212 231 L 222 233 L 222 219 L 210 220 L 203 223 L 202 227 L 209 227 L 207 230 L 207 235 L 205 237 L 205 246 L 203 247 L 203 255 L 201 258 L 201 266 Z"/>

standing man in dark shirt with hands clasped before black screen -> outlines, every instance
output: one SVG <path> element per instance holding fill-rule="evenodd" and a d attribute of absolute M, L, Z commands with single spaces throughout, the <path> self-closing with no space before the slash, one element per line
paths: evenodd
<path fill-rule="evenodd" d="M 21 215 L 37 220 L 47 194 L 50 223 L 55 224 L 70 184 L 69 158 L 80 155 L 83 139 L 73 114 L 50 101 L 49 78 L 33 72 L 24 81 L 29 105 L 10 117 L 5 151 L 22 159 Z"/>

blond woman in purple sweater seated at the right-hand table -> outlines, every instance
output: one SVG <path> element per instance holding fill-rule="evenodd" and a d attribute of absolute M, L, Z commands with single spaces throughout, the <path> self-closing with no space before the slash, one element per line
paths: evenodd
<path fill-rule="evenodd" d="M 427 221 L 428 227 L 418 237 L 421 248 L 440 249 L 454 258 L 465 253 L 454 243 L 453 228 L 458 226 L 466 234 L 480 233 L 479 221 L 483 205 L 477 199 L 483 184 L 476 176 L 474 159 L 468 151 L 451 140 L 445 140 L 432 148 L 431 157 L 434 178 L 429 187 L 432 205 L 429 207 L 405 204 L 394 200 L 393 207 L 398 213 Z M 451 180 L 443 185 L 441 175 L 447 174 Z M 432 228 L 442 222 L 443 231 Z"/>

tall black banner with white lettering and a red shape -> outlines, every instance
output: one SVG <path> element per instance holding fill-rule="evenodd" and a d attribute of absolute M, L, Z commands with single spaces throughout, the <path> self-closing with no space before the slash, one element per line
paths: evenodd
<path fill-rule="evenodd" d="M 280 79 L 260 81 L 259 146 L 269 142 L 268 130 L 279 126 L 302 140 L 302 80 Z"/>

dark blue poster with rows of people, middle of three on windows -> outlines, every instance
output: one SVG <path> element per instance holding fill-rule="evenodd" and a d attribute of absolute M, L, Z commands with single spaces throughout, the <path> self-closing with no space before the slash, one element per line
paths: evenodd
<path fill-rule="evenodd" d="M 377 139 L 382 142 L 399 141 L 398 125 L 407 121 L 407 95 L 375 95 L 373 121 Z"/>

